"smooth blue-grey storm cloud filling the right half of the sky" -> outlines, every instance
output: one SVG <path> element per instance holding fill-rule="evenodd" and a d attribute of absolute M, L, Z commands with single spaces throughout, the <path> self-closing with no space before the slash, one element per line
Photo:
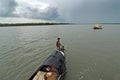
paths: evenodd
<path fill-rule="evenodd" d="M 68 12 L 63 16 L 67 15 L 65 19 L 70 22 L 116 22 L 120 21 L 119 3 L 118 0 L 84 0 L 81 5 L 71 4 L 72 8 L 66 6 Z"/>

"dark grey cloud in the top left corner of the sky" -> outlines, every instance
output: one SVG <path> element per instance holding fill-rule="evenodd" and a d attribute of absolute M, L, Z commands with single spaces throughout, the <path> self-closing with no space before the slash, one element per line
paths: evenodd
<path fill-rule="evenodd" d="M 9 17 L 13 15 L 13 11 L 17 3 L 14 0 L 0 0 L 0 17 Z"/>

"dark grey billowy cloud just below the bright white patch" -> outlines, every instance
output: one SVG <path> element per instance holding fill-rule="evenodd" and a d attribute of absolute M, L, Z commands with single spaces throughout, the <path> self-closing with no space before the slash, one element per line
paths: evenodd
<path fill-rule="evenodd" d="M 48 7 L 45 11 L 43 11 L 39 8 L 33 8 L 29 6 L 26 7 L 24 11 L 20 12 L 20 14 L 16 14 L 16 15 L 25 18 L 44 19 L 44 20 L 55 20 L 59 16 L 57 12 L 57 8 Z"/>

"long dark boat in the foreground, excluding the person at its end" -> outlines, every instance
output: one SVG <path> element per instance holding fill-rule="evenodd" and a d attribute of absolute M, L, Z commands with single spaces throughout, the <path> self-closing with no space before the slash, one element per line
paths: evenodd
<path fill-rule="evenodd" d="M 53 70 L 52 67 L 54 67 Z M 35 73 L 29 78 L 29 80 L 62 80 L 65 73 L 65 54 L 62 51 L 55 51 L 35 71 Z"/>

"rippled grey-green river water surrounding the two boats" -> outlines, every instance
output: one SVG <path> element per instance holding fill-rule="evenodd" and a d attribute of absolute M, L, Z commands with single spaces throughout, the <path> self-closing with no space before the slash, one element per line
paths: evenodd
<path fill-rule="evenodd" d="M 56 50 L 66 48 L 65 80 L 120 80 L 120 25 L 0 27 L 0 80 L 27 80 Z"/>

